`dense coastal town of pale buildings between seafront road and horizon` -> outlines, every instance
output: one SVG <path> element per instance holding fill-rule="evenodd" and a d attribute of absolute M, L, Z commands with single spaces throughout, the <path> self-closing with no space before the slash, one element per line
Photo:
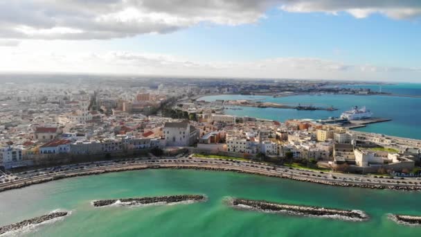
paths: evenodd
<path fill-rule="evenodd" d="M 200 99 L 217 94 L 384 94 L 380 91 L 308 80 L 66 78 L 2 76 L 0 182 L 12 182 L 13 172 L 31 168 L 163 155 L 419 175 L 420 140 L 357 132 L 343 121 L 231 116 L 224 114 L 226 107 L 249 102 Z"/>

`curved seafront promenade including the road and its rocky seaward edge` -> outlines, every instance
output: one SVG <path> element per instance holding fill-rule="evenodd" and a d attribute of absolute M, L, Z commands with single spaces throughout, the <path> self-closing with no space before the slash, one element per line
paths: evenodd
<path fill-rule="evenodd" d="M 268 177 L 294 179 L 302 182 L 313 182 L 331 186 L 395 189 L 395 190 L 421 190 L 418 179 L 405 178 L 388 179 L 373 178 L 363 175 L 348 175 L 341 173 L 326 173 L 315 170 L 301 170 L 285 166 L 272 166 L 254 161 L 236 161 L 229 159 L 206 159 L 196 157 L 172 157 L 159 159 L 125 159 L 116 161 L 98 161 L 42 170 L 30 170 L 14 174 L 15 179 L 0 184 L 0 192 L 15 188 L 23 188 L 33 184 L 51 182 L 66 177 L 84 175 L 99 175 L 103 173 L 121 172 L 128 170 L 143 170 L 147 168 L 189 168 L 197 170 L 233 171 Z M 17 177 L 17 179 L 16 179 Z"/>

